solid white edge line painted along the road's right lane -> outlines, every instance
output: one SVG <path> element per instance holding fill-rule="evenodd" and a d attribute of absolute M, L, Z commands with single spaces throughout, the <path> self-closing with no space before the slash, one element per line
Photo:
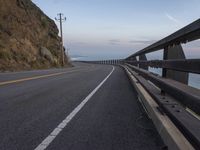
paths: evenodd
<path fill-rule="evenodd" d="M 56 136 L 67 126 L 67 124 L 73 119 L 73 117 L 83 108 L 83 106 L 90 100 L 90 98 L 98 91 L 98 89 L 106 82 L 111 76 L 115 68 L 108 76 L 47 136 L 42 143 L 40 143 L 35 150 L 44 150 L 49 144 L 56 138 Z"/>

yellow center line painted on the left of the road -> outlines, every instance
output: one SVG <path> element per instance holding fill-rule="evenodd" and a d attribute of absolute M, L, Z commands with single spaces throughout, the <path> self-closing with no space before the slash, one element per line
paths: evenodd
<path fill-rule="evenodd" d="M 4 82 L 0 82 L 0 86 L 7 85 L 7 84 L 12 84 L 12 83 L 19 83 L 19 82 L 29 81 L 29 80 L 47 78 L 47 77 L 52 77 L 52 76 L 58 76 L 58 75 L 62 75 L 62 74 L 65 74 L 65 73 L 70 73 L 70 72 L 75 72 L 75 71 L 79 71 L 79 70 L 58 72 L 58 73 L 52 73 L 52 74 L 34 76 L 34 77 L 29 77 L 29 78 L 17 79 L 17 80 L 4 81 Z"/>

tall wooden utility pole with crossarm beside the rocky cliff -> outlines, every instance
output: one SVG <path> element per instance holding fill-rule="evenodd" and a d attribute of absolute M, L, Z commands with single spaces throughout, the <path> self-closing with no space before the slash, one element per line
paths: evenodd
<path fill-rule="evenodd" d="M 66 21 L 66 17 L 63 17 L 62 13 L 58 14 L 59 18 L 55 18 L 56 21 L 60 22 L 60 36 L 61 36 L 61 41 L 60 41 L 60 49 L 61 49 L 61 58 L 62 58 L 62 65 L 65 65 L 65 56 L 64 56 L 64 49 L 63 49 L 63 32 L 62 32 L 62 23 Z"/>

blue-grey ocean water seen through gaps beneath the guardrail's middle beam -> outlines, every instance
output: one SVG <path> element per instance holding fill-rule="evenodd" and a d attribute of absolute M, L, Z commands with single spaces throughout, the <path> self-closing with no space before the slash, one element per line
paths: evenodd
<path fill-rule="evenodd" d="M 156 73 L 158 75 L 162 75 L 162 69 L 161 68 L 149 68 L 150 72 Z M 200 89 L 200 75 L 199 74 L 194 74 L 194 73 L 189 73 L 189 82 L 188 85 L 197 89 Z"/>

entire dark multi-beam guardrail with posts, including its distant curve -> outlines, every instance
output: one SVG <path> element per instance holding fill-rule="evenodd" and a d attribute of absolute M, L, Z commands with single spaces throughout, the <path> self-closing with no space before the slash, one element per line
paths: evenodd
<path fill-rule="evenodd" d="M 122 64 L 154 98 L 195 149 L 200 148 L 200 90 L 188 86 L 188 74 L 200 74 L 200 59 L 186 59 L 181 44 L 200 39 L 200 19 L 123 60 L 92 61 Z M 146 54 L 163 49 L 163 60 Z M 148 71 L 162 68 L 162 76 Z"/>

